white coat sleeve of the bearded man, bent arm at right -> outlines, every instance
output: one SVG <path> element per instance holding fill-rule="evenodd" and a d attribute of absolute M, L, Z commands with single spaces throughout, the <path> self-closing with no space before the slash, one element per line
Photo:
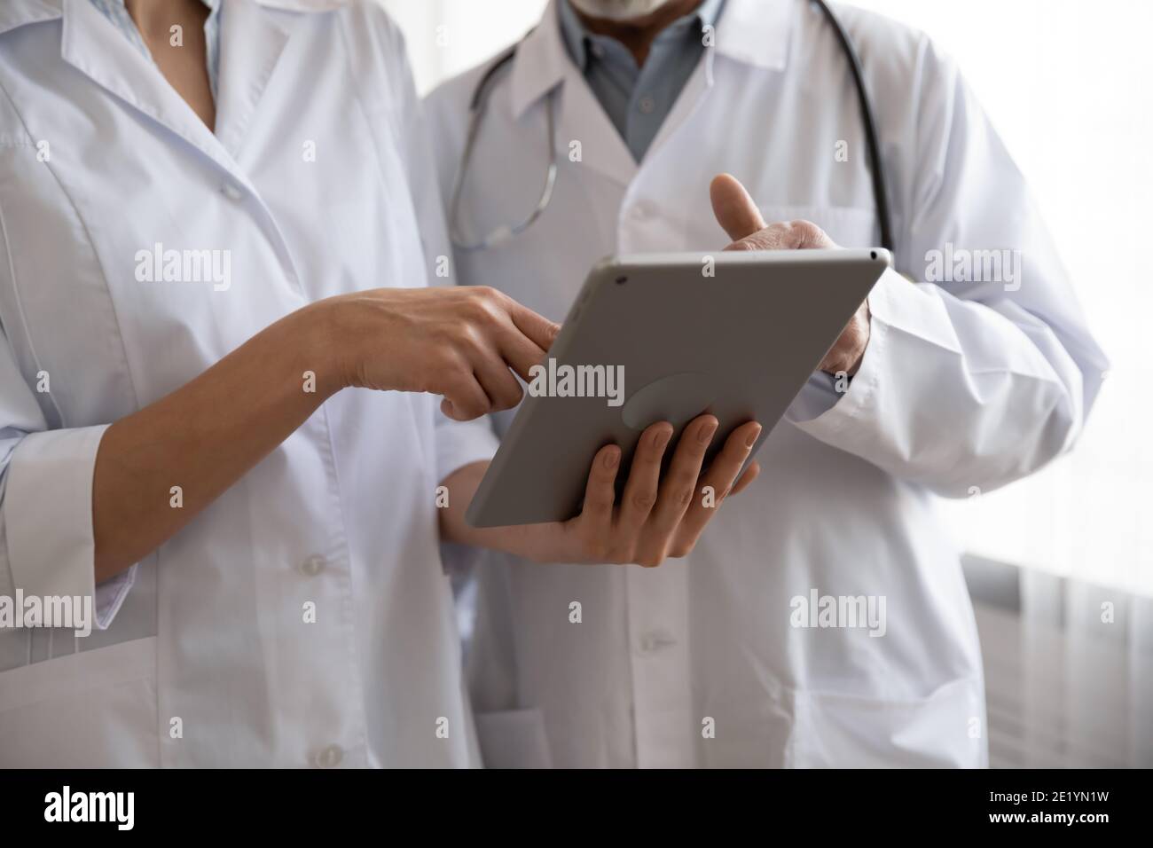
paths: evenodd
<path fill-rule="evenodd" d="M 789 418 L 896 478 L 962 497 L 1067 451 L 1108 363 L 1022 174 L 927 40 L 914 80 L 913 119 L 898 130 L 907 137 L 887 163 L 900 174 L 897 267 L 920 282 L 882 276 L 847 391 L 814 417 L 794 404 Z M 1011 264 L 981 279 L 996 275 L 973 273 L 974 262 L 966 276 L 958 250 L 1008 250 Z M 950 254 L 959 275 L 944 268 Z"/>

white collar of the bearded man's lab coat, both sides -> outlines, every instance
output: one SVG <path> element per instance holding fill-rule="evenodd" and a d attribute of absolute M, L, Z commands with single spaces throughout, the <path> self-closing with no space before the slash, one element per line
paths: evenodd
<path fill-rule="evenodd" d="M 550 0 L 540 24 L 517 47 L 510 80 L 517 120 L 556 88 L 572 65 L 557 8 L 563 1 Z M 784 70 L 799 5 L 800 0 L 726 0 L 716 28 L 716 52 L 756 68 Z"/>

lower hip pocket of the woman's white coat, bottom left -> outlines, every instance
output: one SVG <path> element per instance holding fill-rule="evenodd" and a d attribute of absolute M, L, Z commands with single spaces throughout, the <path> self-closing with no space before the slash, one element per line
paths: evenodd
<path fill-rule="evenodd" d="M 156 637 L 0 673 L 5 768 L 156 767 L 159 731 Z"/>

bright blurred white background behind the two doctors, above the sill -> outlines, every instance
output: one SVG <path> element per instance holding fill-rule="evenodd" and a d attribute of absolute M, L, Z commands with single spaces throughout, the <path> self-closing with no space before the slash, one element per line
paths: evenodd
<path fill-rule="evenodd" d="M 800 2 L 801 0 L 798 0 Z M 544 0 L 384 0 L 428 91 Z M 1153 596 L 1153 2 L 861 0 L 952 53 L 1038 195 L 1113 369 L 1077 450 L 949 505 L 970 551 Z M 766 143 L 771 140 L 767 138 Z"/>

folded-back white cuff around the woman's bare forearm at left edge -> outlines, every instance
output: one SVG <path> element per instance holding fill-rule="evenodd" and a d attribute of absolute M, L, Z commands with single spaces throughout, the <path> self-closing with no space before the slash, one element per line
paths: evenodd
<path fill-rule="evenodd" d="M 136 566 L 96 586 L 92 474 L 107 425 L 31 433 L 8 465 L 5 530 L 13 588 L 39 598 L 92 598 L 95 625 L 108 626 Z"/>

